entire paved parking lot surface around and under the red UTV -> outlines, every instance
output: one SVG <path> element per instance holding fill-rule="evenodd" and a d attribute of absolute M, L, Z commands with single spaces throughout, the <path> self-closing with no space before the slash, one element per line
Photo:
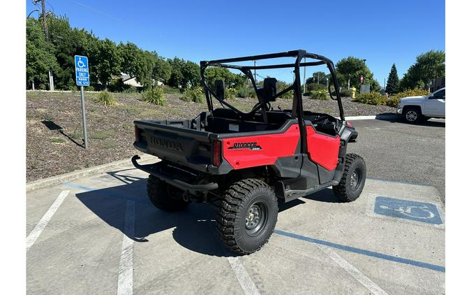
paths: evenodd
<path fill-rule="evenodd" d="M 244 257 L 219 242 L 213 208 L 157 210 L 130 166 L 28 192 L 27 292 L 444 294 L 444 195 L 427 176 L 444 180 L 444 124 L 430 124 L 354 122 L 350 151 L 371 177 L 360 198 L 324 189 L 281 204 L 269 243 Z M 406 164 L 420 175 L 396 178 Z"/>

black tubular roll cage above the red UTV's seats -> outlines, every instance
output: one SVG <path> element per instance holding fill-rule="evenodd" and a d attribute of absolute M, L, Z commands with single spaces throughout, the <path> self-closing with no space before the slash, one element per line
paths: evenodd
<path fill-rule="evenodd" d="M 296 61 L 294 62 L 294 64 L 273 64 L 273 65 L 267 65 L 267 66 L 256 66 L 256 65 L 238 66 L 235 64 L 227 64 L 227 63 L 233 63 L 233 62 L 251 62 L 251 61 L 257 61 L 260 59 L 275 59 L 278 57 L 296 57 Z M 304 58 L 311 58 L 317 61 L 316 62 L 301 62 L 301 60 Z M 341 96 L 340 96 L 340 87 L 338 86 L 338 80 L 335 74 L 334 62 L 332 62 L 327 57 L 309 53 L 309 52 L 306 52 L 306 50 L 291 50 L 291 51 L 286 51 L 286 52 L 271 53 L 267 55 L 253 55 L 253 56 L 248 56 L 248 57 L 234 57 L 230 59 L 216 59 L 216 60 L 211 60 L 211 61 L 201 61 L 200 73 L 201 73 L 202 85 L 204 88 L 204 95 L 206 96 L 206 101 L 208 104 L 208 109 L 211 112 L 214 110 L 212 97 L 214 96 L 216 99 L 218 99 L 218 96 L 216 95 L 214 90 L 211 89 L 211 87 L 207 85 L 207 82 L 204 78 L 204 71 L 206 71 L 206 69 L 209 66 L 218 66 L 220 68 L 237 69 L 241 71 L 242 73 L 244 73 L 244 75 L 246 75 L 251 80 L 253 89 L 255 90 L 257 89 L 257 85 L 255 83 L 255 78 L 253 77 L 253 73 L 251 70 L 294 68 L 293 84 L 290 87 L 287 87 L 286 89 L 284 89 L 283 91 L 278 92 L 274 97 L 277 98 L 285 94 L 286 92 L 289 92 L 290 90 L 294 90 L 292 115 L 299 118 L 300 119 L 299 124 L 301 125 L 301 127 L 304 127 L 304 120 L 303 120 L 304 113 L 303 113 L 302 92 L 301 92 L 301 75 L 299 73 L 299 68 L 301 68 L 302 66 L 320 66 L 322 64 L 326 64 L 327 68 L 329 69 L 329 72 L 331 73 L 331 81 L 329 82 L 329 85 L 327 85 L 327 88 L 329 89 L 329 94 L 330 94 L 330 83 L 334 84 L 340 119 L 342 121 L 345 121 L 345 117 L 343 115 L 343 106 L 342 106 L 342 101 L 341 101 Z M 257 94 L 259 101 L 261 101 L 259 92 L 255 91 L 255 93 Z M 223 106 L 227 106 L 227 108 L 230 108 L 236 112 L 240 112 L 239 110 L 237 110 L 237 108 L 234 108 L 234 106 L 231 106 L 230 103 L 227 103 L 226 101 L 220 100 L 220 99 L 218 99 L 218 101 L 221 104 L 223 104 Z"/>

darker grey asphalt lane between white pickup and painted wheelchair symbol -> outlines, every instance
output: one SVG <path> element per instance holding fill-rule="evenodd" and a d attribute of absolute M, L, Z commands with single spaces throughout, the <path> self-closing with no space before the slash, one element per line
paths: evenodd
<path fill-rule="evenodd" d="M 368 177 L 431 185 L 445 201 L 445 121 L 422 124 L 401 120 L 352 121 L 359 132 L 349 152 L 361 154 Z"/>

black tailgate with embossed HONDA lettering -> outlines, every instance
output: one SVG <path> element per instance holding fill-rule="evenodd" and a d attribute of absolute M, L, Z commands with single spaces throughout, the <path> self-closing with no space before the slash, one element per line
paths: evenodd
<path fill-rule="evenodd" d="M 190 129 L 192 120 L 135 121 L 134 124 L 137 150 L 207 171 L 212 160 L 210 133 Z"/>

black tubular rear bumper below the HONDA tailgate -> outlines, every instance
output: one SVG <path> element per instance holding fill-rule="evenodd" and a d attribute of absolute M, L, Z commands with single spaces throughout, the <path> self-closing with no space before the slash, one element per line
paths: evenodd
<path fill-rule="evenodd" d="M 184 182 L 182 180 L 172 177 L 171 175 L 167 175 L 165 173 L 162 173 L 161 171 L 158 171 L 158 169 L 155 168 L 155 164 L 141 165 L 137 163 L 138 159 L 140 159 L 140 157 L 137 154 L 131 159 L 135 168 L 147 172 L 151 175 L 154 175 L 156 176 L 156 178 L 162 180 L 163 182 L 167 182 L 169 185 L 173 185 L 174 187 L 183 189 L 185 192 L 189 192 L 190 194 L 197 194 L 198 192 L 207 192 L 218 188 L 218 184 L 216 182 L 210 182 L 204 185 L 192 185 L 188 182 Z"/>

